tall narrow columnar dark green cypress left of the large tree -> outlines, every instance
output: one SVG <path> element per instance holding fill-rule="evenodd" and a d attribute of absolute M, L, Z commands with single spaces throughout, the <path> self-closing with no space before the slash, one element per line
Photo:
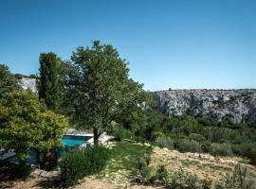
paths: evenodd
<path fill-rule="evenodd" d="M 40 54 L 39 97 L 45 99 L 46 106 L 52 111 L 58 111 L 60 105 L 59 66 L 60 59 L 56 54 Z"/>

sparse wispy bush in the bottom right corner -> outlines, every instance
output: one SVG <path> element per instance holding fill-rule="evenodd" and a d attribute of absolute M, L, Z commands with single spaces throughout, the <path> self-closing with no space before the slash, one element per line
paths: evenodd
<path fill-rule="evenodd" d="M 234 168 L 232 174 L 228 174 L 223 178 L 223 183 L 216 186 L 218 189 L 253 189 L 252 180 L 247 179 L 247 168 L 240 163 Z"/>

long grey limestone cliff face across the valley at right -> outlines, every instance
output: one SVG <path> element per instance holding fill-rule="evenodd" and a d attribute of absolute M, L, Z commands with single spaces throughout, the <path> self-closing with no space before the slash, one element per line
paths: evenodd
<path fill-rule="evenodd" d="M 210 115 L 232 123 L 256 123 L 256 90 L 169 90 L 153 93 L 156 109 L 169 114 Z"/>

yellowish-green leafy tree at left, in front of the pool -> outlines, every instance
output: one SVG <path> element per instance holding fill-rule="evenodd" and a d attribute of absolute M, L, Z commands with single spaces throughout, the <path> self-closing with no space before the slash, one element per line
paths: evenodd
<path fill-rule="evenodd" d="M 31 148 L 46 153 L 49 166 L 52 152 L 61 146 L 61 135 L 67 129 L 63 115 L 46 110 L 46 105 L 31 92 L 13 92 L 0 99 L 0 146 L 13 148 L 25 163 Z M 41 153 L 41 154 L 42 154 Z M 52 160 L 52 159 L 51 159 Z"/>

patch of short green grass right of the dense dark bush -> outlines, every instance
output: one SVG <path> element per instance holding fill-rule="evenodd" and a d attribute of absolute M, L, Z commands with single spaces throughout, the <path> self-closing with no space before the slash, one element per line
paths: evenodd
<path fill-rule="evenodd" d="M 115 142 L 110 148 L 110 160 L 98 177 L 117 182 L 126 182 L 132 179 L 137 171 L 137 158 L 143 156 L 145 152 L 152 152 L 152 148 L 149 146 L 124 141 Z"/>

